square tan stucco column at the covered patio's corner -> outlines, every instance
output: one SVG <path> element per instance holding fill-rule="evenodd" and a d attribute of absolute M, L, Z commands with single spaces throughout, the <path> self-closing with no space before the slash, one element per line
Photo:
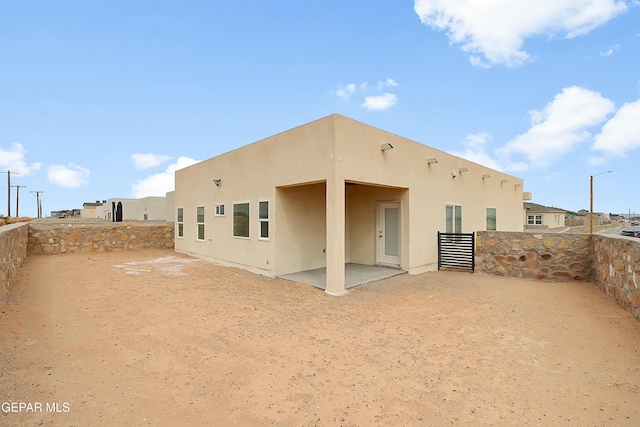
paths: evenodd
<path fill-rule="evenodd" d="M 326 202 L 327 283 L 325 292 L 337 296 L 346 292 L 344 280 L 345 184 L 342 177 L 334 175 L 327 179 Z"/>

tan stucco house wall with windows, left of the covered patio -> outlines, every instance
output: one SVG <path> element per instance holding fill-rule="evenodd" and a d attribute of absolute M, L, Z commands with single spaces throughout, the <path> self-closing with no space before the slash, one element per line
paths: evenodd
<path fill-rule="evenodd" d="M 175 244 L 178 252 L 265 275 L 274 274 L 273 149 L 273 138 L 267 138 L 176 171 L 174 211 L 184 209 L 184 237 L 176 237 Z M 221 179 L 219 187 L 214 179 Z M 258 202 L 261 200 L 269 201 L 269 240 L 258 239 Z M 243 202 L 250 203 L 248 239 L 232 235 L 233 204 Z M 214 215 L 216 204 L 225 205 L 224 216 Z M 198 206 L 205 208 L 204 241 L 197 240 Z"/>

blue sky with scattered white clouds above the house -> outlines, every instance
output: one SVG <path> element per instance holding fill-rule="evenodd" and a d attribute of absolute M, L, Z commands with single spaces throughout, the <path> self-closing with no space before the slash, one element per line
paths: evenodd
<path fill-rule="evenodd" d="M 338 113 L 640 213 L 637 0 L 0 0 L 0 171 L 20 215 L 164 195 L 173 171 Z M 0 214 L 7 213 L 0 174 Z M 11 210 L 15 214 L 16 189 Z"/>

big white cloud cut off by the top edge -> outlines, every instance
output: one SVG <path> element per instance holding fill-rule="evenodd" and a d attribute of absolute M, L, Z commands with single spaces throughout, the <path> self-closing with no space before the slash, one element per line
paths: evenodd
<path fill-rule="evenodd" d="M 624 13 L 622 0 L 415 0 L 422 23 L 445 31 L 476 66 L 519 66 L 527 38 L 577 37 Z"/>

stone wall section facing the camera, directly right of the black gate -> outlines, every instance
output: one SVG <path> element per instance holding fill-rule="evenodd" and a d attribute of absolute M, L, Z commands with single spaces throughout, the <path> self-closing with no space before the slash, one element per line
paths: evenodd
<path fill-rule="evenodd" d="M 479 231 L 476 272 L 548 281 L 593 277 L 590 234 Z"/>

